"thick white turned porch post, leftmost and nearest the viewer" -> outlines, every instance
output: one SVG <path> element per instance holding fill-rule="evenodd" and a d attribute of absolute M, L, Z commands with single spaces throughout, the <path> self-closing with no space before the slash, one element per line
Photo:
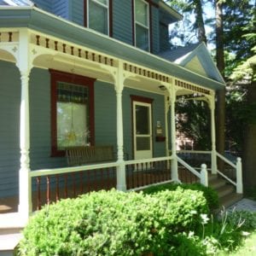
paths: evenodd
<path fill-rule="evenodd" d="M 30 177 L 30 121 L 29 121 L 29 44 L 28 32 L 20 29 L 20 47 L 17 67 L 20 69 L 21 100 L 20 100 L 20 171 L 19 171 L 19 213 L 23 221 L 32 212 L 32 188 Z"/>

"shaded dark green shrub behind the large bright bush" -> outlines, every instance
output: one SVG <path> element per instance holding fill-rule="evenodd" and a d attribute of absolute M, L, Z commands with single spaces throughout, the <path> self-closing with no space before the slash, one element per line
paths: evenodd
<path fill-rule="evenodd" d="M 148 189 L 144 189 L 143 191 L 146 194 L 154 194 L 163 190 L 171 190 L 171 191 L 176 190 L 177 188 L 202 191 L 203 195 L 207 199 L 207 204 L 211 211 L 219 207 L 218 193 L 216 192 L 216 190 L 210 187 L 205 187 L 201 183 L 193 183 L 193 184 L 166 183 L 166 184 L 151 186 Z"/>

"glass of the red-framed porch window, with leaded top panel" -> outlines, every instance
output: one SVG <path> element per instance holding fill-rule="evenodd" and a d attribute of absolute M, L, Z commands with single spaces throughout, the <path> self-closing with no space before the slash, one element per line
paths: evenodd
<path fill-rule="evenodd" d="M 79 84 L 57 83 L 57 148 L 89 143 L 89 90 Z"/>

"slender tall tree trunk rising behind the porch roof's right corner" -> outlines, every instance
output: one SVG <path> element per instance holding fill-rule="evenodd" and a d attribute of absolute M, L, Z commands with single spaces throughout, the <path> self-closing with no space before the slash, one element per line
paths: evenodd
<path fill-rule="evenodd" d="M 223 4 L 216 0 L 216 61 L 220 73 L 224 76 L 224 38 L 223 38 Z M 219 90 L 217 93 L 217 151 L 224 154 L 225 141 L 225 90 Z M 218 166 L 222 169 L 222 166 Z"/>

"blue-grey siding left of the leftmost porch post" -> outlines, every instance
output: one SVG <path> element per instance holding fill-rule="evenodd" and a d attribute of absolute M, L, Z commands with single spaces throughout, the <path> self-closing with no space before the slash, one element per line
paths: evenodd
<path fill-rule="evenodd" d="M 20 72 L 0 61 L 0 195 L 18 192 L 20 169 Z"/>

